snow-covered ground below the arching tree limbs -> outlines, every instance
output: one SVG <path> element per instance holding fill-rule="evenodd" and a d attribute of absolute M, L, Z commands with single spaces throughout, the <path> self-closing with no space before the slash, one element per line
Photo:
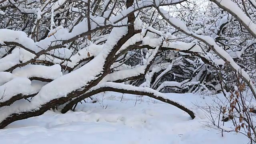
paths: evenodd
<path fill-rule="evenodd" d="M 166 94 L 174 100 L 203 106 L 211 96 Z M 242 134 L 205 126 L 197 117 L 147 96 L 106 92 L 98 102 L 86 102 L 76 112 L 48 111 L 42 116 L 13 122 L 0 130 L 0 144 L 247 144 Z M 122 99 L 122 101 L 121 101 Z M 193 104 L 194 103 L 194 104 Z M 196 106 L 194 106 L 196 109 Z"/>

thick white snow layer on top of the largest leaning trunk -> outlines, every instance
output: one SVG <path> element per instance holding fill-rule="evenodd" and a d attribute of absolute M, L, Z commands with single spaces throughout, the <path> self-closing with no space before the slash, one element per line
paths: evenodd
<path fill-rule="evenodd" d="M 127 19 L 124 19 L 124 21 L 127 22 Z M 58 32 L 61 30 L 63 29 L 58 30 Z M 35 110 L 50 100 L 67 96 L 70 92 L 87 86 L 88 82 L 97 79 L 98 77 L 96 76 L 102 73 L 103 66 L 105 64 L 104 62 L 109 52 L 116 45 L 118 40 L 127 32 L 128 29 L 126 27 L 113 28 L 110 33 L 109 40 L 104 44 L 103 50 L 98 54 L 98 56 L 81 68 L 60 76 L 52 82 L 44 85 L 40 92 L 34 96 L 29 105 L 26 102 L 18 101 L 14 102 L 11 106 L 4 108 L 0 116 L 0 120 L 3 120 L 12 113 Z"/>

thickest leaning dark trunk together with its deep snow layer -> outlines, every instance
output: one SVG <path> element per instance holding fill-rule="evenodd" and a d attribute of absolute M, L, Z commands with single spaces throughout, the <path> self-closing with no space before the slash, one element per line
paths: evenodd
<path fill-rule="evenodd" d="M 17 108 L 15 104 L 12 104 L 10 107 L 5 107 L 4 110 L 7 110 L 7 112 L 2 112 L 1 114 L 0 120 L 2 123 L 0 123 L 0 127 L 6 126 L 5 120 L 9 120 L 7 123 L 10 123 L 20 120 L 20 118 L 29 118 L 42 114 L 52 106 L 64 104 L 67 100 L 83 94 L 86 89 L 98 84 L 108 73 L 108 70 L 104 71 L 104 69 L 109 69 L 110 64 L 108 62 L 112 61 L 111 56 L 114 56 L 122 46 L 118 45 L 118 43 L 128 40 L 133 35 L 133 32 L 128 33 L 127 27 L 117 27 L 112 30 L 110 35 L 111 38 L 104 45 L 104 49 L 90 63 L 43 86 L 29 105 L 20 104 L 19 108 Z M 66 84 L 66 82 L 69 84 Z M 34 112 L 37 113 L 34 114 Z M 23 114 L 26 114 L 26 116 Z M 19 117 L 13 118 L 14 115 L 19 115 Z"/>

